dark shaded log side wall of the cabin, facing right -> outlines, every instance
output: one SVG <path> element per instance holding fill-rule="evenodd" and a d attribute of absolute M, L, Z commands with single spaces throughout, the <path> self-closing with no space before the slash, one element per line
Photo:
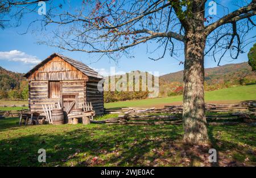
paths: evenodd
<path fill-rule="evenodd" d="M 86 82 L 86 101 L 91 102 L 96 115 L 104 114 L 104 92 L 98 90 L 99 79 L 90 79 Z M 101 87 L 103 89 L 103 87 Z"/>

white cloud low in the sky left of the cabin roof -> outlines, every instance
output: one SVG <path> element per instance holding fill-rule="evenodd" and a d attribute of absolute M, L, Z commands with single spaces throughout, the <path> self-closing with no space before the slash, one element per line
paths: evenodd
<path fill-rule="evenodd" d="M 38 64 L 41 62 L 36 56 L 31 56 L 19 50 L 10 50 L 9 52 L 0 52 L 0 60 L 14 62 L 23 62 L 27 64 Z"/>

